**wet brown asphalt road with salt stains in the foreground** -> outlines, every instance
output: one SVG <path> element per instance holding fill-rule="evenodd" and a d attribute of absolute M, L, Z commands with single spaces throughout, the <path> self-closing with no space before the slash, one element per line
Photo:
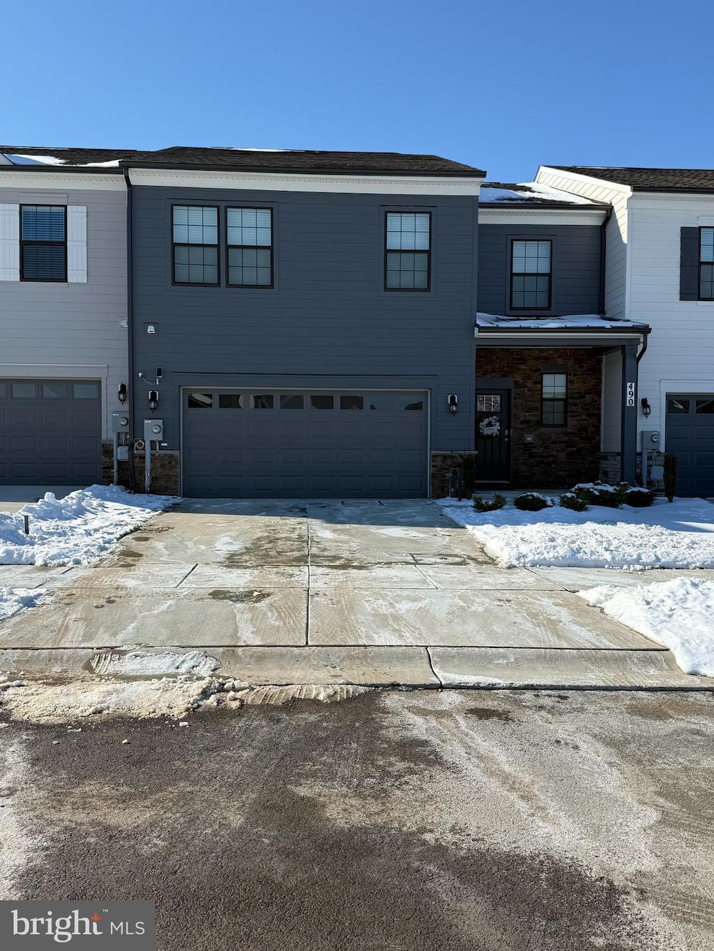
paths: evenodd
<path fill-rule="evenodd" d="M 4 898 L 153 900 L 161 951 L 714 948 L 711 694 L 81 726 L 0 729 Z"/>

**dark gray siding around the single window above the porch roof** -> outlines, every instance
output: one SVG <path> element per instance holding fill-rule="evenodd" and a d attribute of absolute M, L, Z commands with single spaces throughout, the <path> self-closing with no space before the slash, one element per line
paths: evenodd
<path fill-rule="evenodd" d="M 592 224 L 485 224 L 479 231 L 479 310 L 510 309 L 510 243 L 514 238 L 552 241 L 551 308 L 548 314 L 596 314 L 601 309 L 601 228 Z"/>

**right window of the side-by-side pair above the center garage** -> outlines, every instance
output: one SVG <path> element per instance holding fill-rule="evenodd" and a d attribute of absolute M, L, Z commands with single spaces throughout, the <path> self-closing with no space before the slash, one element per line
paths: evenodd
<path fill-rule="evenodd" d="M 272 209 L 227 208 L 228 284 L 272 287 Z"/>

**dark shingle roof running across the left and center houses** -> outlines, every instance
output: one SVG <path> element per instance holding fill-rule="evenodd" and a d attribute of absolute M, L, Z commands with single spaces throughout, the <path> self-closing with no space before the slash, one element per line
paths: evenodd
<path fill-rule="evenodd" d="M 188 165 L 192 167 L 252 168 L 274 171 L 325 171 L 481 176 L 486 172 L 438 155 L 401 152 L 262 151 L 241 148 L 171 146 L 155 151 L 122 148 L 51 148 L 0 146 L 0 153 L 54 156 L 64 165 L 88 165 L 120 159 L 130 165 Z M 36 166 L 33 166 L 36 167 Z M 56 166 L 54 166 L 56 167 Z"/>

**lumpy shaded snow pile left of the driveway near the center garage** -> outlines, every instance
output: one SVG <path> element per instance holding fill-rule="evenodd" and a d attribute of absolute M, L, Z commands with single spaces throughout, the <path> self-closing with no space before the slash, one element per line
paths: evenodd
<path fill-rule="evenodd" d="M 0 513 L 0 565 L 89 565 L 175 501 L 169 495 L 129 495 L 114 485 L 93 485 L 62 499 L 49 492 L 15 514 Z"/>

